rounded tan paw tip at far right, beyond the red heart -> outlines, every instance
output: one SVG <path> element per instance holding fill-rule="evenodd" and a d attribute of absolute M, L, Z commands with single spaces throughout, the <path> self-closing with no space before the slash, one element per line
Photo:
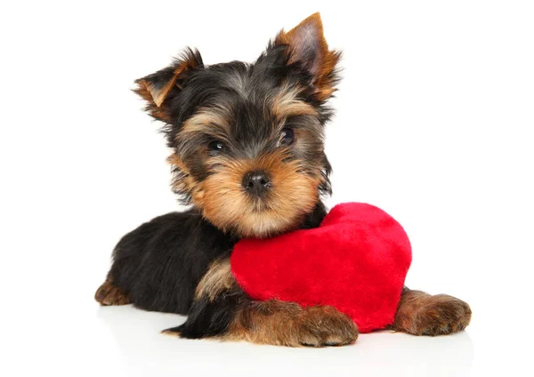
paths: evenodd
<path fill-rule="evenodd" d="M 437 294 L 421 302 L 411 318 L 409 333 L 445 335 L 465 329 L 471 321 L 471 308 L 465 301 L 447 294 Z"/>

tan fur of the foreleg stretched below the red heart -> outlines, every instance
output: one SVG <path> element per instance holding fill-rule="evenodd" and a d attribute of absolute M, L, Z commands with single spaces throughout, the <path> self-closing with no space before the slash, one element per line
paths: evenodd
<path fill-rule="evenodd" d="M 342 346 L 358 338 L 352 319 L 328 306 L 301 308 L 285 301 L 250 302 L 239 309 L 223 340 L 287 347 Z"/>

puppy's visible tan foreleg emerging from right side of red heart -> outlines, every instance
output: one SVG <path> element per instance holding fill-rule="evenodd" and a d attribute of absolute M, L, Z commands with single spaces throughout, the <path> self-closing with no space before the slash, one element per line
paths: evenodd
<path fill-rule="evenodd" d="M 447 294 L 430 295 L 404 288 L 392 330 L 414 335 L 445 335 L 465 329 L 471 321 L 466 302 Z"/>

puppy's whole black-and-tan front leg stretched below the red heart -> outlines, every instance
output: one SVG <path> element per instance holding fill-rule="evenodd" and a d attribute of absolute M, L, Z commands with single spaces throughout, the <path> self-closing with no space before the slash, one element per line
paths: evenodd
<path fill-rule="evenodd" d="M 342 346 L 358 338 L 352 319 L 332 307 L 252 301 L 236 284 L 228 260 L 212 264 L 198 284 L 187 321 L 164 333 L 289 347 Z"/>

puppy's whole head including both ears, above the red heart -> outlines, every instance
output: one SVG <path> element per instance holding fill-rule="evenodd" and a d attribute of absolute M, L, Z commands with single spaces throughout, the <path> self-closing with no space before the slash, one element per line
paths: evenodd
<path fill-rule="evenodd" d="M 207 67 L 188 50 L 138 80 L 147 110 L 166 123 L 175 192 L 239 237 L 298 227 L 330 190 L 325 102 L 337 60 L 314 14 L 253 64 Z"/>

